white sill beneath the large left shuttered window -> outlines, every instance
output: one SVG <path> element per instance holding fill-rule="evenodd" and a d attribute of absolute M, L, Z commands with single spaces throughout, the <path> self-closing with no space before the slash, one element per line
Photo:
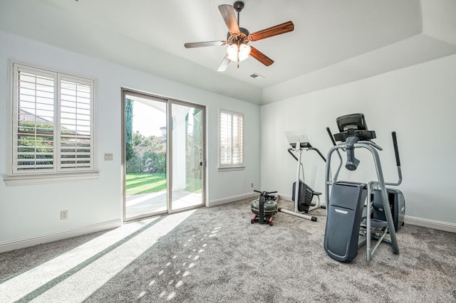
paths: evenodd
<path fill-rule="evenodd" d="M 38 174 L 24 176 L 7 176 L 4 180 L 6 186 L 21 186 L 34 184 L 49 184 L 55 182 L 84 181 L 99 179 L 100 174 L 95 172 L 73 173 L 73 174 Z"/>

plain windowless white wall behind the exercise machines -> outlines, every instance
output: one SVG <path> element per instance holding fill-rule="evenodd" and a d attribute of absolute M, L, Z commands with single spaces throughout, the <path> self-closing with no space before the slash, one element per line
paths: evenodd
<path fill-rule="evenodd" d="M 398 134 L 406 216 L 456 226 L 456 55 L 432 60 L 346 85 L 311 92 L 261 107 L 261 184 L 291 196 L 296 161 L 287 154 L 284 132 L 306 129 L 309 140 L 326 156 L 336 132 L 336 117 L 361 112 L 383 147 L 386 181 L 396 181 L 390 132 Z M 358 152 L 358 150 L 357 150 Z M 343 171 L 339 180 L 370 181 L 375 170 L 368 151 L 358 152 L 361 165 Z M 337 163 L 336 155 L 333 163 Z M 304 153 L 306 183 L 324 192 L 324 164 Z M 354 175 L 356 174 L 356 176 Z M 323 197 L 323 200 L 326 198 Z"/>

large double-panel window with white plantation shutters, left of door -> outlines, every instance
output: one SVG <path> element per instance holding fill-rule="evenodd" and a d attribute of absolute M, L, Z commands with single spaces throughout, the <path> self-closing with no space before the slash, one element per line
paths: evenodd
<path fill-rule="evenodd" d="M 12 174 L 94 171 L 94 80 L 13 70 Z"/>

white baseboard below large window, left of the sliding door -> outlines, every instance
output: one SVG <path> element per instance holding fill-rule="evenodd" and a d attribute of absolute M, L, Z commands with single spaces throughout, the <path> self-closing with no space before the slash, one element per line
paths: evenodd
<path fill-rule="evenodd" d="M 30 238 L 22 238 L 19 240 L 6 241 L 0 243 L 0 252 L 7 252 L 9 250 L 19 250 L 20 248 L 28 248 L 30 246 L 50 243 L 57 240 L 63 240 L 68 238 L 77 237 L 78 235 L 87 235 L 89 233 L 96 233 L 101 230 L 107 230 L 110 228 L 118 228 L 122 225 L 122 219 L 109 220 L 102 223 L 95 223 L 86 225 L 81 228 L 75 228 L 72 230 L 65 230 L 58 233 L 49 233 L 46 235 L 37 235 Z"/>

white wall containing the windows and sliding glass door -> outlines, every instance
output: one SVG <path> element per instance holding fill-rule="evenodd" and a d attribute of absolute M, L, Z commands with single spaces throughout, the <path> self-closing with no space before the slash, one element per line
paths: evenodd
<path fill-rule="evenodd" d="M 68 50 L 54 48 L 0 31 L 0 250 L 15 241 L 57 235 L 122 218 L 121 179 L 121 87 L 194 102 L 207 107 L 207 201 L 227 201 L 252 193 L 259 184 L 260 108 L 258 105 L 205 92 L 171 80 L 124 68 Z M 98 80 L 97 154 L 100 179 L 33 186 L 6 186 L 6 121 L 10 100 L 8 60 L 85 75 Z M 217 121 L 219 108 L 244 114 L 244 171 L 217 171 Z M 103 153 L 113 153 L 114 161 L 103 161 Z M 68 210 L 68 219 L 60 211 Z M 64 237 L 65 235 L 62 235 Z"/>

